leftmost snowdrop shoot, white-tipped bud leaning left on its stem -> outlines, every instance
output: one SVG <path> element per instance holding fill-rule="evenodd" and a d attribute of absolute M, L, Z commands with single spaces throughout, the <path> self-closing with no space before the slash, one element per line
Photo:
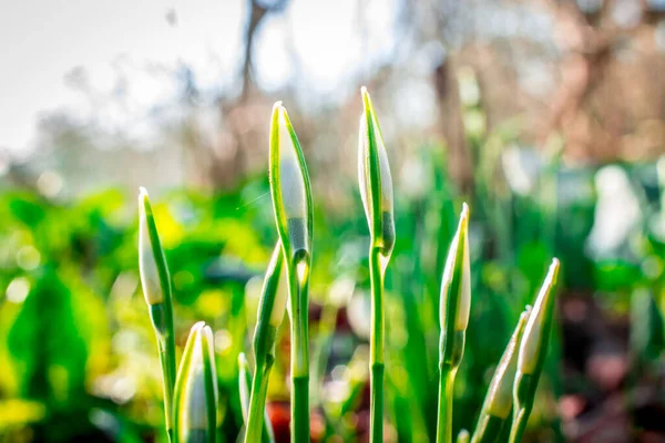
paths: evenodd
<path fill-rule="evenodd" d="M 175 334 L 171 278 L 157 227 L 145 188 L 139 193 L 139 270 L 150 318 L 157 337 L 164 379 L 164 415 L 168 440 L 173 436 L 173 390 L 175 387 Z"/>

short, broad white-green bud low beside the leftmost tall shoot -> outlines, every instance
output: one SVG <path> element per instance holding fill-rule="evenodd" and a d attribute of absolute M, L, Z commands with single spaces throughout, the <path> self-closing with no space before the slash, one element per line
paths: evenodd
<path fill-rule="evenodd" d="M 213 331 L 200 321 L 190 330 L 175 383 L 173 416 L 178 443 L 215 443 L 217 395 Z"/>

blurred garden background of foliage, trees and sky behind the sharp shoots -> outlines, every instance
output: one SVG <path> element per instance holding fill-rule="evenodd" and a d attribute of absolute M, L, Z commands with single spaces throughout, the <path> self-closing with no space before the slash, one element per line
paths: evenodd
<path fill-rule="evenodd" d="M 0 442 L 165 442 L 141 185 L 177 343 L 212 324 L 218 439 L 235 442 L 237 354 L 277 238 L 276 100 L 313 179 L 313 434 L 365 441 L 361 85 L 397 202 L 388 441 L 434 432 L 439 284 L 463 200 L 473 301 L 456 429 L 475 423 L 556 256 L 557 326 L 526 440 L 665 439 L 665 1 L 29 0 L 0 4 Z M 282 332 L 268 409 L 286 439 Z"/>

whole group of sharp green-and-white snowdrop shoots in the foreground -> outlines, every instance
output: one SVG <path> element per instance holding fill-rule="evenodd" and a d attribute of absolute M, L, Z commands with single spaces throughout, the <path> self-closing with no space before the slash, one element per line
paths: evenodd
<path fill-rule="evenodd" d="M 370 234 L 370 442 L 383 442 L 385 301 L 383 279 L 396 240 L 392 177 L 379 121 L 369 93 L 361 90 L 358 181 Z M 311 268 L 313 205 L 309 174 L 294 126 L 282 102 L 270 122 L 270 194 L 278 240 L 265 272 L 253 338 L 252 370 L 239 357 L 239 395 L 246 443 L 272 442 L 265 406 L 277 330 L 290 319 L 290 434 L 294 443 L 310 441 L 308 288 Z M 165 426 L 171 442 L 215 442 L 217 378 L 213 333 L 204 322 L 190 331 L 180 364 L 175 357 L 171 277 L 147 197 L 141 189 L 139 267 L 145 301 L 157 338 L 164 381 Z M 464 354 L 472 302 L 469 257 L 470 212 L 462 204 L 441 281 L 439 320 L 439 402 L 437 442 L 452 436 L 452 389 Z M 446 247 L 446 245 L 441 245 Z M 501 357 L 472 433 L 458 442 L 510 442 L 522 439 L 548 350 L 559 260 L 553 259 L 533 308 L 526 306 Z M 509 429 L 507 429 L 509 426 Z"/>

